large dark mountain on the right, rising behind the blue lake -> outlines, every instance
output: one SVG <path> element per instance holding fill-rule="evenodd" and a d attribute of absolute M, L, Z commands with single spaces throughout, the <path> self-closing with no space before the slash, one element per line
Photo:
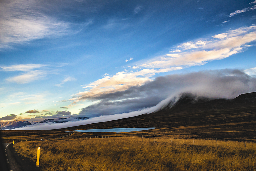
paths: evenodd
<path fill-rule="evenodd" d="M 161 135 L 255 139 L 256 93 L 234 99 L 210 99 L 185 93 L 153 113 L 62 130 L 145 127 L 156 127 Z"/>

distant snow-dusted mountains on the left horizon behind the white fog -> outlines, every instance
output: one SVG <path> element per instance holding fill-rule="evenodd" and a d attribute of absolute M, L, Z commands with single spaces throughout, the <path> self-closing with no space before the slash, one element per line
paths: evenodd
<path fill-rule="evenodd" d="M 85 120 L 89 119 L 88 117 L 63 117 L 63 118 L 54 118 L 54 119 L 45 119 L 40 122 L 35 122 L 36 123 L 49 123 L 49 122 L 54 122 L 54 123 L 65 123 L 65 122 L 70 122 L 70 121 L 77 121 L 77 120 Z M 16 120 L 16 121 L 8 121 L 8 122 L 0 122 L 0 130 L 5 130 L 5 129 L 15 129 L 15 128 L 21 128 L 23 126 L 27 125 L 32 125 L 30 122 L 25 121 L 25 120 Z"/>

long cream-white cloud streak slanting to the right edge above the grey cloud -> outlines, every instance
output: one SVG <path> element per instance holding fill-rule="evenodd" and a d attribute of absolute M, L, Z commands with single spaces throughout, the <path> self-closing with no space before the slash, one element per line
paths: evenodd
<path fill-rule="evenodd" d="M 104 103 L 103 96 L 126 91 L 133 86 L 142 86 L 153 81 L 157 73 L 204 65 L 213 60 L 227 58 L 242 52 L 248 47 L 249 43 L 255 40 L 256 26 L 250 26 L 213 35 L 208 39 L 182 43 L 173 47 L 174 51 L 169 51 L 165 55 L 137 64 L 134 68 L 130 67 L 131 71 L 125 70 L 112 76 L 105 75 L 104 78 L 84 86 L 83 88 L 86 91 L 73 94 L 73 97 L 69 99 L 72 102 L 70 106 L 79 103 L 81 100 L 92 100 L 97 101 L 97 103 L 102 100 L 102 103 Z M 125 101 L 127 98 L 122 96 L 116 100 Z"/>

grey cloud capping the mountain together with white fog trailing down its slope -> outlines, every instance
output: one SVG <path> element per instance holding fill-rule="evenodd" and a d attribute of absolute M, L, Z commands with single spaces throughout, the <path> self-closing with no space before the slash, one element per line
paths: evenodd
<path fill-rule="evenodd" d="M 15 130 L 58 129 L 152 113 L 170 102 L 174 104 L 183 92 L 212 99 L 233 99 L 240 94 L 255 91 L 256 78 L 242 70 L 224 69 L 167 75 L 125 91 L 102 94 L 95 98 L 100 100 L 99 103 L 83 108 L 76 115 L 93 118 L 67 123 L 35 124 Z"/>

